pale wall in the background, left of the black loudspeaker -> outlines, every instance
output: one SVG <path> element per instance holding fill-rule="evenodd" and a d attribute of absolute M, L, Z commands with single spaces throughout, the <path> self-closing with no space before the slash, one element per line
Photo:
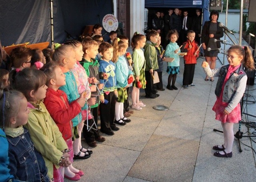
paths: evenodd
<path fill-rule="evenodd" d="M 233 13 L 228 13 L 228 21 L 227 21 L 227 26 L 229 30 L 233 30 L 235 32 L 239 31 L 239 26 L 240 26 L 240 14 L 233 14 Z M 226 22 L 226 13 L 220 13 L 218 22 L 222 22 L 225 25 Z M 247 28 L 249 27 L 249 23 L 246 23 Z"/>

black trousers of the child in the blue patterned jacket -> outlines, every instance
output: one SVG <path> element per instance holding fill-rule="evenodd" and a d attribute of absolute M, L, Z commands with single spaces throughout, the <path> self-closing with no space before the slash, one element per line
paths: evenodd
<path fill-rule="evenodd" d="M 108 95 L 104 93 L 104 98 L 108 100 L 108 104 L 100 103 L 100 130 L 111 132 L 111 128 L 116 126 L 114 124 L 116 106 L 114 91 L 109 92 Z"/>

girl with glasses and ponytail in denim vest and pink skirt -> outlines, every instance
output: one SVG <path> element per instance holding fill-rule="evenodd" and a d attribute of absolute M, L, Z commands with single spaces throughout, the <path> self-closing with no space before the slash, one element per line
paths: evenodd
<path fill-rule="evenodd" d="M 248 70 L 254 68 L 252 53 L 247 46 L 231 46 L 228 49 L 228 65 L 211 70 L 207 62 L 202 63 L 204 72 L 209 77 L 218 76 L 215 89 L 217 100 L 212 108 L 216 120 L 221 121 L 224 144 L 213 147 L 216 157 L 232 157 L 234 141 L 233 124 L 241 120 L 240 100 L 244 95 L 247 76 L 243 66 Z M 243 64 L 241 64 L 243 63 Z"/>

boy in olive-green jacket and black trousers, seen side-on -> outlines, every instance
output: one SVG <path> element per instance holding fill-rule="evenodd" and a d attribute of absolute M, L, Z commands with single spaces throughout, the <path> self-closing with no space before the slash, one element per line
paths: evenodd
<path fill-rule="evenodd" d="M 146 78 L 146 98 L 157 98 L 159 94 L 156 94 L 154 89 L 153 78 L 154 70 L 158 69 L 157 62 L 157 52 L 156 52 L 156 42 L 158 41 L 159 33 L 156 30 L 151 30 L 148 32 L 147 37 L 148 41 L 144 46 L 144 57 L 146 60 L 145 67 L 145 78 Z"/>

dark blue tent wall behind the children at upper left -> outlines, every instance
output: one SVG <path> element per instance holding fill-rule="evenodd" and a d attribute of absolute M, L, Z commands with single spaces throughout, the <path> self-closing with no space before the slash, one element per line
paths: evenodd
<path fill-rule="evenodd" d="M 0 4 L 2 46 L 51 42 L 49 0 L 0 0 Z M 102 24 L 102 18 L 112 14 L 112 0 L 53 0 L 53 12 L 54 42 L 63 43 L 66 32 L 76 39 L 86 25 Z"/>

